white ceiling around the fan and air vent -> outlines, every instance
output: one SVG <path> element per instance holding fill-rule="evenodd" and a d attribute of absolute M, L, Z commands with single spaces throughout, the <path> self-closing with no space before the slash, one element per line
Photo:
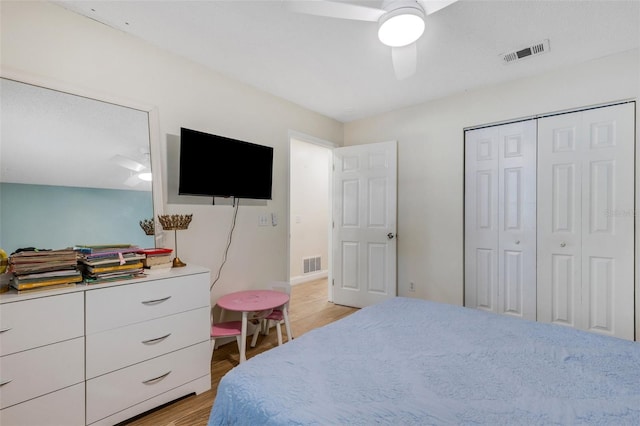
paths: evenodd
<path fill-rule="evenodd" d="M 640 0 L 459 0 L 427 17 L 417 72 L 398 81 L 376 23 L 282 0 L 55 3 L 342 122 L 640 46 Z M 503 64 L 544 39 L 548 53 Z"/>

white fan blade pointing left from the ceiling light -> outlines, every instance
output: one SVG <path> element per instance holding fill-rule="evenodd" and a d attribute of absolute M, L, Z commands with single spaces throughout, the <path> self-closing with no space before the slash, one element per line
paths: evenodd
<path fill-rule="evenodd" d="M 327 0 L 289 0 L 284 4 L 290 11 L 296 13 L 356 21 L 377 22 L 385 13 L 382 9 Z"/>

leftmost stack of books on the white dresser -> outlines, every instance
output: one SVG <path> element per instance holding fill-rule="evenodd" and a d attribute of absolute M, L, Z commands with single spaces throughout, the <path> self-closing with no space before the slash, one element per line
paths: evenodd
<path fill-rule="evenodd" d="M 24 250 L 9 258 L 11 287 L 23 291 L 75 286 L 82 281 L 73 249 Z"/>

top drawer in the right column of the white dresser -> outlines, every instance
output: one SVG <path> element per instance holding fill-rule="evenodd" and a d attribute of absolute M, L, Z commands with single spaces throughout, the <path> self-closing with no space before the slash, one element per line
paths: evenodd
<path fill-rule="evenodd" d="M 86 333 L 209 306 L 209 274 L 132 283 L 86 292 Z"/>

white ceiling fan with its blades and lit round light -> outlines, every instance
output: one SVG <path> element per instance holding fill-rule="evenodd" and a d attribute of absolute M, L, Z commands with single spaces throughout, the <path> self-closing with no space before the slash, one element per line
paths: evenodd
<path fill-rule="evenodd" d="M 424 19 L 457 0 L 385 0 L 382 8 L 330 0 L 296 1 L 289 10 L 308 15 L 378 23 L 378 38 L 391 47 L 393 69 L 398 80 L 416 72 L 416 41 L 424 32 Z"/>

